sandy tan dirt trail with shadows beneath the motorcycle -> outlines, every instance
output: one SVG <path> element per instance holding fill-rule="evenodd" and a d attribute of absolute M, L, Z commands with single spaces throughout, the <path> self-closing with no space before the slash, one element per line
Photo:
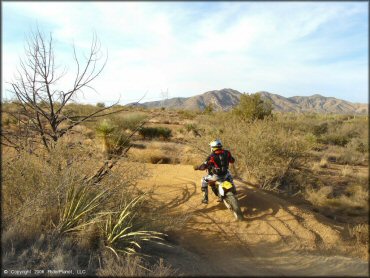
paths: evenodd
<path fill-rule="evenodd" d="M 245 217 L 238 222 L 211 190 L 209 204 L 201 204 L 203 171 L 187 165 L 148 168 L 152 176 L 139 187 L 154 186 L 153 198 L 168 210 L 191 215 L 186 227 L 170 235 L 177 247 L 157 250 L 185 275 L 368 276 L 366 261 L 333 254 L 340 230 L 320 215 L 236 182 Z"/>

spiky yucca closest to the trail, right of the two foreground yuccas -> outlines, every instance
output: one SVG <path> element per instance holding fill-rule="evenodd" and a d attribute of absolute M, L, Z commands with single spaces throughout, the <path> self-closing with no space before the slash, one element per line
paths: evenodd
<path fill-rule="evenodd" d="M 130 203 L 123 206 L 121 212 L 113 212 L 108 215 L 105 223 L 105 247 L 112 251 L 117 258 L 118 254 L 136 254 L 135 248 L 141 249 L 140 243 L 143 241 L 156 242 L 164 244 L 163 233 L 147 230 L 136 230 L 134 228 L 134 219 L 136 216 L 135 206 L 144 197 L 144 195 L 134 198 Z"/>

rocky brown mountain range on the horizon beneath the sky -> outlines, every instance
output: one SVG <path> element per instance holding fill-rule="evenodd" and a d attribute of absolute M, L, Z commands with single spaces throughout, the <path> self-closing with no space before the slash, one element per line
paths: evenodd
<path fill-rule="evenodd" d="M 283 97 L 265 91 L 256 92 L 261 98 L 271 102 L 275 112 L 295 113 L 333 113 L 333 114 L 367 114 L 368 104 L 352 103 L 334 97 L 324 97 L 319 94 L 312 96 Z M 238 105 L 242 93 L 233 89 L 222 89 L 205 92 L 200 95 L 184 98 L 176 97 L 163 101 L 151 101 L 139 104 L 129 104 L 147 108 L 172 108 L 185 110 L 203 110 L 212 105 L 216 111 L 227 111 Z"/>

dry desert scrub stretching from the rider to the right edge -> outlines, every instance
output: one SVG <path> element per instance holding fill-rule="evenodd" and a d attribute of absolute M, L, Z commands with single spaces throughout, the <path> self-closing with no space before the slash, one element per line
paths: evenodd
<path fill-rule="evenodd" d="M 203 117 L 206 132 L 194 144 L 200 148 L 212 138 L 223 138 L 238 160 L 236 174 L 256 186 L 299 194 L 334 211 L 367 213 L 366 116 L 274 114 L 247 122 L 245 115 L 242 121 L 238 117 L 229 112 Z M 333 173 L 337 179 L 328 178 Z"/>

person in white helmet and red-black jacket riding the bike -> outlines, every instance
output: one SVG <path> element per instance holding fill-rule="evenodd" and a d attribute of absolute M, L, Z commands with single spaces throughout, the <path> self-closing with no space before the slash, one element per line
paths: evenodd
<path fill-rule="evenodd" d="M 202 203 L 208 204 L 208 183 L 211 181 L 217 181 L 220 177 L 225 177 L 233 185 L 233 191 L 235 191 L 235 185 L 233 178 L 229 172 L 229 163 L 234 163 L 235 159 L 232 157 L 230 151 L 222 148 L 221 140 L 216 139 L 209 143 L 211 147 L 211 154 L 207 157 L 206 161 L 200 166 L 194 167 L 195 170 L 208 169 L 208 175 L 202 178 L 202 191 L 203 200 Z M 213 193 L 218 197 L 218 191 L 215 186 L 211 186 Z M 218 199 L 221 201 L 221 199 Z"/>

